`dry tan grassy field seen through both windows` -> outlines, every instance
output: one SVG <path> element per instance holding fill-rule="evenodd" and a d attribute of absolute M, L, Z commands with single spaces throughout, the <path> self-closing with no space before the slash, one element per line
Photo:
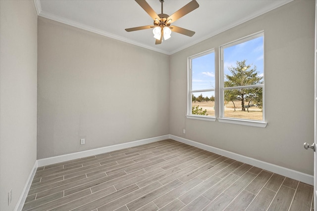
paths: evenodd
<path fill-rule="evenodd" d="M 228 102 L 224 109 L 224 117 L 227 118 L 239 118 L 239 119 L 248 119 L 248 120 L 263 120 L 262 109 L 257 107 L 249 108 L 249 112 L 241 111 L 241 102 L 235 101 L 236 110 L 234 111 L 234 106 L 232 102 Z M 202 107 L 203 110 L 207 110 L 208 116 L 214 116 L 214 102 L 193 102 L 193 106 Z M 245 105 L 248 105 L 247 103 Z"/>

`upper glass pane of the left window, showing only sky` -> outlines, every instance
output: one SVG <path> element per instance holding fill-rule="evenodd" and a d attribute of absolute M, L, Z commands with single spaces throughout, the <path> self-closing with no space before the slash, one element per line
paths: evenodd
<path fill-rule="evenodd" d="M 192 59 L 192 90 L 215 88 L 214 52 Z"/>

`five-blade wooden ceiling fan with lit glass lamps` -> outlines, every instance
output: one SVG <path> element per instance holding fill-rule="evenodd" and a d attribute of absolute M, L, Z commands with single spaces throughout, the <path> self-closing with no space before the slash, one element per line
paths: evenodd
<path fill-rule="evenodd" d="M 161 2 L 161 14 L 157 14 L 151 6 L 145 0 L 135 0 L 154 20 L 153 25 L 148 26 L 139 26 L 134 28 L 125 29 L 127 32 L 138 31 L 143 29 L 151 29 L 153 28 L 154 38 L 156 39 L 155 44 L 160 44 L 164 37 L 164 40 L 170 38 L 171 32 L 177 32 L 189 37 L 192 37 L 195 32 L 190 31 L 188 29 L 183 29 L 178 26 L 170 26 L 171 23 L 183 17 L 184 15 L 190 13 L 194 9 L 199 7 L 199 4 L 196 0 L 192 0 L 172 15 L 167 15 L 163 13 L 163 2 L 164 0 L 159 0 Z"/>

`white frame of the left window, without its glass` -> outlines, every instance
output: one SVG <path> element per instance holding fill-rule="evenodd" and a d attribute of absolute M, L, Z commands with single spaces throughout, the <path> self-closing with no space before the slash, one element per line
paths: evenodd
<path fill-rule="evenodd" d="M 214 53 L 214 60 L 215 60 L 215 51 L 214 48 L 211 48 L 209 50 L 203 51 L 201 53 L 195 54 L 193 56 L 190 56 L 187 58 L 188 64 L 187 64 L 187 115 L 186 117 L 189 119 L 199 119 L 199 120 L 207 120 L 207 121 L 216 121 L 216 112 L 215 112 L 215 116 L 204 116 L 204 115 L 195 115 L 192 114 L 192 94 L 196 93 L 196 92 L 207 92 L 207 91 L 213 91 L 214 93 L 216 93 L 217 89 L 216 89 L 216 85 L 214 88 L 210 88 L 210 89 L 197 89 L 197 90 L 192 90 L 192 61 L 195 58 L 199 58 L 201 56 L 205 56 L 207 54 L 210 53 Z M 216 105 L 216 100 L 214 101 L 215 105 Z"/>

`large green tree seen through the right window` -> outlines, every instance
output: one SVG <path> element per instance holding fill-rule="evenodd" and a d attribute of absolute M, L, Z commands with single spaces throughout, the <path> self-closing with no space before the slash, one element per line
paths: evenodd
<path fill-rule="evenodd" d="M 263 77 L 258 76 L 257 67 L 254 66 L 252 68 L 251 65 L 246 65 L 246 60 L 241 62 L 237 61 L 237 66 L 228 67 L 228 70 L 231 72 L 231 75 L 225 75 L 225 87 L 262 84 Z M 245 111 L 245 101 L 249 102 L 249 105 L 252 101 L 257 101 L 257 103 L 262 105 L 262 88 L 238 88 L 226 90 L 225 99 L 229 101 L 235 99 L 240 100 L 242 111 Z"/>

